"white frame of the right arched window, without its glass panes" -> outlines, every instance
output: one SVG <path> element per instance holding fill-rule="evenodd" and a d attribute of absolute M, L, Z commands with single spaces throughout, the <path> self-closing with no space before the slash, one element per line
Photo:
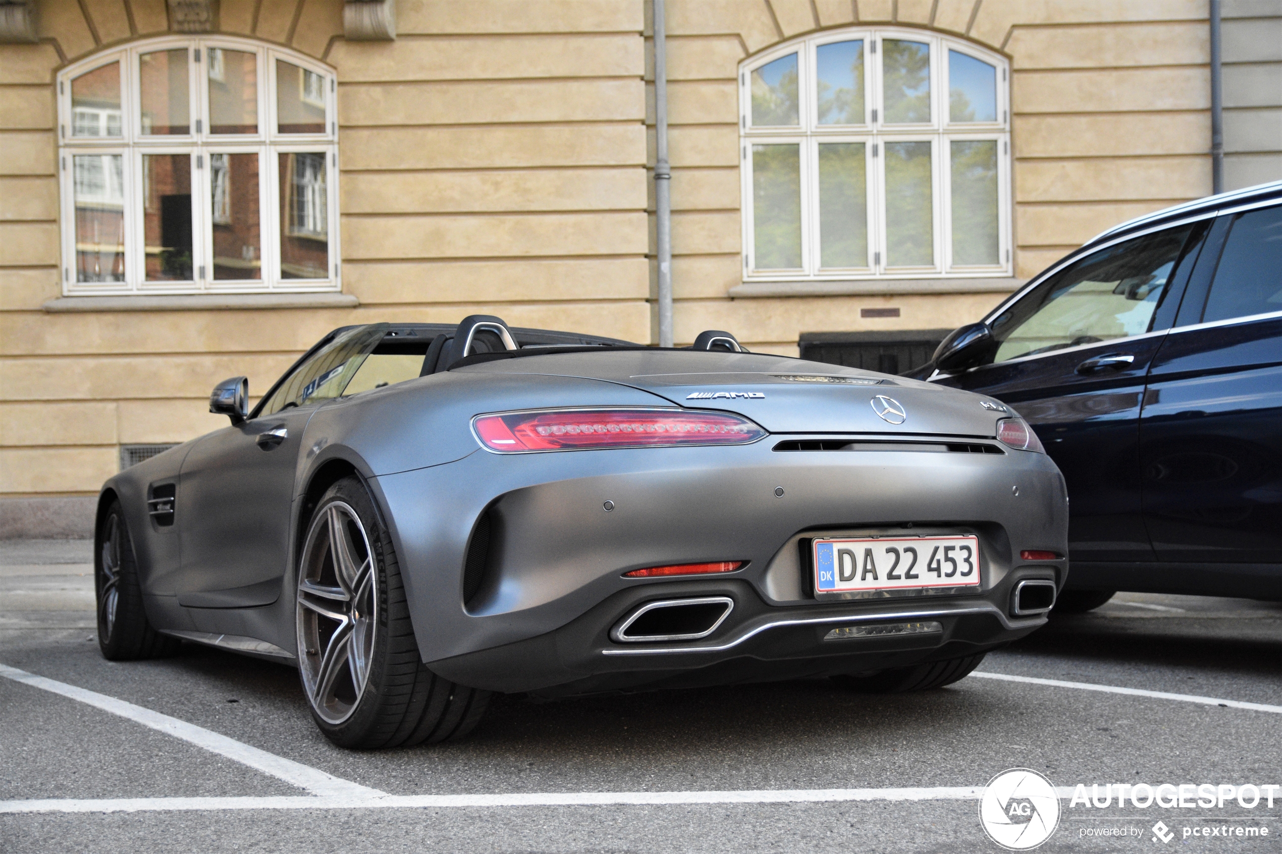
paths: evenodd
<path fill-rule="evenodd" d="M 931 117 L 926 124 L 887 124 L 882 104 L 882 42 L 886 38 L 926 42 L 931 50 Z M 817 56 L 822 45 L 863 40 L 864 123 L 819 124 Z M 877 50 L 873 52 L 872 45 Z M 951 122 L 949 51 L 967 54 L 996 69 L 996 122 Z M 788 54 L 797 55 L 799 124 L 795 127 L 753 125 L 753 72 Z M 746 282 L 805 280 L 894 280 L 920 278 L 994 278 L 1013 275 L 1010 197 L 1010 64 L 1000 54 L 935 32 L 904 27 L 870 27 L 823 31 L 794 38 L 740 65 L 740 177 L 742 200 L 741 259 Z M 874 113 L 876 110 L 876 113 Z M 876 119 L 873 117 L 876 115 Z M 935 262 L 928 266 L 890 268 L 886 234 L 885 143 L 931 141 L 931 201 L 933 209 Z M 992 265 L 953 262 L 951 142 L 995 141 L 997 146 L 997 257 Z M 868 192 L 868 262 L 862 268 L 820 268 L 818 146 L 824 142 L 863 142 Z M 754 243 L 753 145 L 796 143 L 801 164 L 801 269 L 758 269 Z M 874 149 L 876 146 L 876 149 Z"/>

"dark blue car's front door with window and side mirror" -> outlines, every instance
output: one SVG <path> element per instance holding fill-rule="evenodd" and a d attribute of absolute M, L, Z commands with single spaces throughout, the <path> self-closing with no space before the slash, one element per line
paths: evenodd
<path fill-rule="evenodd" d="M 1068 264 L 990 320 L 988 364 L 935 380 L 1004 401 L 1032 425 L 1068 485 L 1074 562 L 1153 560 L 1140 406 L 1205 230 L 1158 229 Z"/>

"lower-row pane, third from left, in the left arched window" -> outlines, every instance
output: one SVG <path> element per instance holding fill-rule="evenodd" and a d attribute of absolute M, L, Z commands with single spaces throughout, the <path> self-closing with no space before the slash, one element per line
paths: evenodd
<path fill-rule="evenodd" d="M 214 279 L 262 279 L 258 155 L 212 154 Z"/>

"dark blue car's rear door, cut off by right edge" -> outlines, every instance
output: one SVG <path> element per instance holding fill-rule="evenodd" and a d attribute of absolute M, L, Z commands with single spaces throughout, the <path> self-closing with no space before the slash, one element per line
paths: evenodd
<path fill-rule="evenodd" d="M 1215 229 L 1149 376 L 1145 521 L 1160 561 L 1282 565 L 1282 205 Z"/>

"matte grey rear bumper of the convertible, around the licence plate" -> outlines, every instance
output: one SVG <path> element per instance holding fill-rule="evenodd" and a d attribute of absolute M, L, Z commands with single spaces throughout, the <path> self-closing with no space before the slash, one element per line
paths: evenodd
<path fill-rule="evenodd" d="M 372 479 L 423 661 L 477 688 L 612 690 L 669 677 L 723 681 L 709 668 L 724 667 L 765 679 L 796 675 L 800 662 L 823 672 L 879 670 L 991 648 L 1041 625 L 1013 616 L 1010 597 L 1024 577 L 1064 584 L 1065 561 L 1019 558 L 1022 549 L 1067 552 L 1067 495 L 1049 457 L 773 449 L 795 438 L 667 451 L 478 451 Z M 485 515 L 490 539 L 479 554 L 472 547 Z M 982 584 L 959 595 L 814 598 L 800 538 L 892 533 L 977 535 Z M 482 577 L 465 595 L 469 558 Z M 623 577 L 703 561 L 746 567 L 722 577 Z M 696 595 L 735 602 L 712 635 L 667 653 L 610 640 L 637 604 Z M 896 615 L 932 609 L 949 612 L 941 636 L 814 639 L 829 618 L 906 620 Z M 583 688 L 597 681 L 603 688 Z"/>

